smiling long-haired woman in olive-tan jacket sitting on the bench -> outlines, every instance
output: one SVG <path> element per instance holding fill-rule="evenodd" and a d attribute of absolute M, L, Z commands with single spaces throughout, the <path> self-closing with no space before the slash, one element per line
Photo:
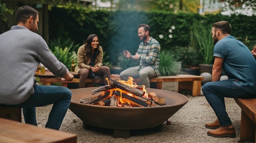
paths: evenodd
<path fill-rule="evenodd" d="M 79 88 L 85 87 L 87 78 L 94 79 L 94 83 L 108 84 L 106 78 L 110 79 L 110 68 L 102 66 L 102 59 L 103 49 L 99 37 L 95 34 L 89 35 L 85 44 L 77 51 L 76 72 L 79 73 Z"/>

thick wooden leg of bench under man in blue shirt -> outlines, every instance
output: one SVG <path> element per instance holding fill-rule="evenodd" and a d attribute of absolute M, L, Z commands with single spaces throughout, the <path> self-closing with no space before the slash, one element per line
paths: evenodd
<path fill-rule="evenodd" d="M 254 140 L 255 140 L 255 124 L 247 116 L 247 114 L 245 114 L 245 112 L 243 112 L 242 110 L 241 126 L 240 126 L 240 141 L 254 141 Z"/>

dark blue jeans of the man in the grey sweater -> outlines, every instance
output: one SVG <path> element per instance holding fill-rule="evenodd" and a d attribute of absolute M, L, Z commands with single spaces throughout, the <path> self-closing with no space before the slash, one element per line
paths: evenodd
<path fill-rule="evenodd" d="M 23 103 L 7 105 L 22 108 L 25 123 L 37 125 L 36 108 L 53 104 L 45 128 L 58 130 L 70 106 L 72 92 L 63 86 L 42 86 L 34 84 L 34 93 Z"/>

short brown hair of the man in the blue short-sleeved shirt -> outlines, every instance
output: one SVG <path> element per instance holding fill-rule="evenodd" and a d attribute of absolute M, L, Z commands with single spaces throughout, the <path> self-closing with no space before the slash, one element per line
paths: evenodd
<path fill-rule="evenodd" d="M 223 34 L 231 34 L 232 27 L 227 21 L 219 21 L 212 25 L 214 31 L 216 32 L 219 29 Z"/>

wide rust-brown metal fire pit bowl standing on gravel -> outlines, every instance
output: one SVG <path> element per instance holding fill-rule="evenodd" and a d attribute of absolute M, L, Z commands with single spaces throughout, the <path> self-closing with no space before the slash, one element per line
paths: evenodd
<path fill-rule="evenodd" d="M 130 130 L 159 128 L 175 112 L 188 102 L 180 93 L 146 88 L 147 92 L 165 98 L 165 106 L 158 107 L 110 107 L 80 103 L 80 99 L 93 97 L 91 91 L 97 87 L 79 88 L 72 91 L 70 110 L 83 121 L 83 128 L 95 126 L 114 129 L 114 137 L 129 138 Z"/>

